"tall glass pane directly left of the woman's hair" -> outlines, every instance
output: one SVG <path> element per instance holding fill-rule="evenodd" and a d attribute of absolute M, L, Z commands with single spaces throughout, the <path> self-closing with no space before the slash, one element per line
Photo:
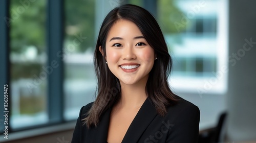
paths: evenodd
<path fill-rule="evenodd" d="M 108 3 L 107 3 L 108 4 Z M 65 1 L 65 40 L 63 56 L 65 64 L 66 120 L 77 118 L 80 108 L 94 101 L 96 78 L 93 67 L 95 48 L 94 0 Z"/>

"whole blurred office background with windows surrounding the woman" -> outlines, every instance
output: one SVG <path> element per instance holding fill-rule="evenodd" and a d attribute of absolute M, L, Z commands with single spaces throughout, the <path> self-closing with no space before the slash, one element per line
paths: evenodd
<path fill-rule="evenodd" d="M 95 99 L 99 28 L 122 4 L 157 19 L 174 62 L 170 86 L 200 108 L 200 142 L 256 142 L 252 0 L 1 1 L 0 85 L 9 87 L 9 126 L 5 139 L 1 115 L 0 141 L 71 142 L 80 108 Z"/>

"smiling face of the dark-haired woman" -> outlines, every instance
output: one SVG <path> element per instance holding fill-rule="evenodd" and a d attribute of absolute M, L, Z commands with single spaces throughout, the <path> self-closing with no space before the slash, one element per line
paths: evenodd
<path fill-rule="evenodd" d="M 121 85 L 145 83 L 154 60 L 154 50 L 133 22 L 122 19 L 113 25 L 106 38 L 106 61 Z"/>

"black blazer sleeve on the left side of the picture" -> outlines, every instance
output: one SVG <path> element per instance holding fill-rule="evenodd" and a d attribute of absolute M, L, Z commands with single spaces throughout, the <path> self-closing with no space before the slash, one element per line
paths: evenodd
<path fill-rule="evenodd" d="M 82 136 L 81 134 L 84 132 L 84 127 L 86 128 L 86 125 L 83 126 L 82 119 L 87 116 L 87 112 L 91 109 L 92 103 L 87 104 L 86 106 L 83 106 L 80 109 L 79 117 L 76 121 L 75 130 L 73 132 L 73 137 L 71 143 L 81 143 L 82 142 Z"/>

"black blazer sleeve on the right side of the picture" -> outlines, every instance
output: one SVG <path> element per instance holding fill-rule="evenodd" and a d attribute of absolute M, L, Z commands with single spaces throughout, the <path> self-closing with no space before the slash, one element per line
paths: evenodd
<path fill-rule="evenodd" d="M 196 143 L 199 135 L 200 110 L 197 106 L 188 106 L 177 117 L 179 121 L 169 130 L 166 142 Z"/>

